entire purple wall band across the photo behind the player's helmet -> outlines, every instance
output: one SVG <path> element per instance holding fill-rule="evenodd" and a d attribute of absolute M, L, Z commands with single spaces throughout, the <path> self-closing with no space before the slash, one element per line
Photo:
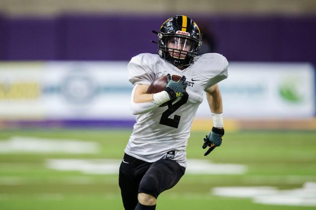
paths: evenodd
<path fill-rule="evenodd" d="M 229 61 L 297 61 L 316 64 L 316 16 L 194 16 L 211 30 L 216 51 Z M 130 60 L 156 53 L 161 16 L 0 16 L 1 60 Z"/>

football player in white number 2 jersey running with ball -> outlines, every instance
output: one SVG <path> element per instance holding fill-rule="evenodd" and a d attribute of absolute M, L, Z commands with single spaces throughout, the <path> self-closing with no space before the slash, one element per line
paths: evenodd
<path fill-rule="evenodd" d="M 187 140 L 204 92 L 214 122 L 204 138 L 202 147 L 210 146 L 205 155 L 221 145 L 224 135 L 217 83 L 227 78 L 226 58 L 217 53 L 196 56 L 202 35 L 187 16 L 171 17 L 159 32 L 153 32 L 158 35 L 158 55 L 139 54 L 128 65 L 129 80 L 134 85 L 131 110 L 136 123 L 119 174 L 126 210 L 154 210 L 158 195 L 175 186 L 184 175 Z M 181 79 L 173 81 L 174 74 Z M 167 75 L 168 82 L 164 91 L 146 93 L 149 85 L 163 75 Z M 161 106 L 166 102 L 168 106 Z"/>

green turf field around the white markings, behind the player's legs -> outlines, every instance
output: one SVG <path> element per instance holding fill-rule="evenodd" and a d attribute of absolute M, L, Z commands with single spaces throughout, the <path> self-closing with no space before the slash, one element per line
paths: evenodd
<path fill-rule="evenodd" d="M 0 143 L 12 137 L 97 142 L 91 154 L 0 152 L 0 210 L 122 210 L 118 175 L 86 174 L 47 168 L 47 159 L 121 159 L 130 130 L 0 131 Z M 157 210 L 312 210 L 314 206 L 257 204 L 251 198 L 221 197 L 214 187 L 271 186 L 302 188 L 316 182 L 316 132 L 226 132 L 223 145 L 204 157 L 205 133 L 192 132 L 187 158 L 242 164 L 242 175 L 186 174 L 161 194 Z M 1 144 L 0 144 L 1 145 Z M 2 144 L 3 146 L 3 144 Z M 1 148 L 0 148 L 1 151 Z M 303 206 L 302 206 L 303 205 Z"/>

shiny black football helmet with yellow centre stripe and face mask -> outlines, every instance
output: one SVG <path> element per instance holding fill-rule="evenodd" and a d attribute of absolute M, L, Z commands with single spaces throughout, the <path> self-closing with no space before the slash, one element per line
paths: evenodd
<path fill-rule="evenodd" d="M 199 27 L 189 17 L 176 15 L 165 21 L 159 32 L 158 54 L 174 66 L 189 66 L 202 44 Z"/>

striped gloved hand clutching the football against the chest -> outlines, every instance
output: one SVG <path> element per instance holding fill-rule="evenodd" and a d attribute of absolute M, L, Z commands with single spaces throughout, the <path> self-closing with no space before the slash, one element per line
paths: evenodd
<path fill-rule="evenodd" d="M 167 74 L 167 86 L 165 91 L 169 94 L 170 99 L 176 99 L 183 96 L 187 84 L 185 83 L 185 76 L 182 76 L 181 79 L 177 82 L 172 80 L 171 75 Z"/>

